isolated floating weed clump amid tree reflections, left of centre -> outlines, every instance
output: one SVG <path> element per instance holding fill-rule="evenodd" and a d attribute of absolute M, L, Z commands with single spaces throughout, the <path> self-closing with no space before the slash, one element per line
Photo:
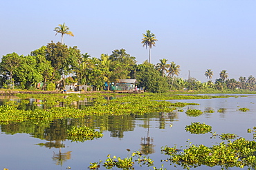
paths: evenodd
<path fill-rule="evenodd" d="M 85 140 L 93 140 L 102 138 L 103 134 L 89 127 L 72 127 L 68 130 L 68 140 L 72 142 L 84 142 Z"/>

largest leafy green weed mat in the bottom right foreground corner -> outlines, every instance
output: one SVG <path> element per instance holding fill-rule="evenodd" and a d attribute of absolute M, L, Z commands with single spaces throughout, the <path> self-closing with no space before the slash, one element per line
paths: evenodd
<path fill-rule="evenodd" d="M 183 151 L 176 147 L 163 147 L 161 151 L 170 156 L 167 160 L 171 164 L 179 164 L 184 169 L 196 168 L 201 165 L 223 168 L 247 166 L 249 169 L 256 167 L 256 142 L 244 138 L 228 143 L 221 142 L 212 147 L 190 143 Z"/>

